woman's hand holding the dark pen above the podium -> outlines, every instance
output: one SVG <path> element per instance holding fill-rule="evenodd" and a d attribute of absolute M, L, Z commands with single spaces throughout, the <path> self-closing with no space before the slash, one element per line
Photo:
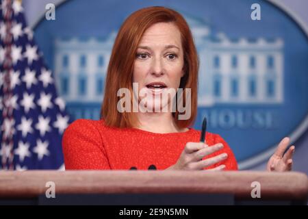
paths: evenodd
<path fill-rule="evenodd" d="M 227 159 L 227 153 L 222 153 L 220 155 L 216 155 L 215 157 L 203 159 L 203 157 L 211 155 L 216 151 L 220 151 L 222 148 L 223 144 L 221 143 L 208 146 L 203 142 L 188 142 L 177 160 L 177 163 L 170 166 L 166 170 L 203 170 L 203 168 L 207 166 L 217 164 L 218 162 Z M 222 164 L 209 170 L 223 170 L 225 167 L 226 166 Z"/>

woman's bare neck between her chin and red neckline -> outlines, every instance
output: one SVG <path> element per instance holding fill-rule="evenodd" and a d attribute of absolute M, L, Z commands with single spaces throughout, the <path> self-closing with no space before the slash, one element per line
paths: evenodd
<path fill-rule="evenodd" d="M 138 112 L 140 122 L 138 129 L 151 131 L 154 133 L 173 133 L 187 131 L 188 129 L 179 129 L 170 112 Z"/>

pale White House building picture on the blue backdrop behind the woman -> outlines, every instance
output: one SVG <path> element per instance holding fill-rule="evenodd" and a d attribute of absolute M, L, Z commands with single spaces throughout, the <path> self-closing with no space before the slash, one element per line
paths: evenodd
<path fill-rule="evenodd" d="M 187 18 L 200 58 L 198 106 L 283 103 L 283 40 L 228 38 Z M 55 40 L 55 81 L 74 118 L 98 119 L 116 32 Z"/>

